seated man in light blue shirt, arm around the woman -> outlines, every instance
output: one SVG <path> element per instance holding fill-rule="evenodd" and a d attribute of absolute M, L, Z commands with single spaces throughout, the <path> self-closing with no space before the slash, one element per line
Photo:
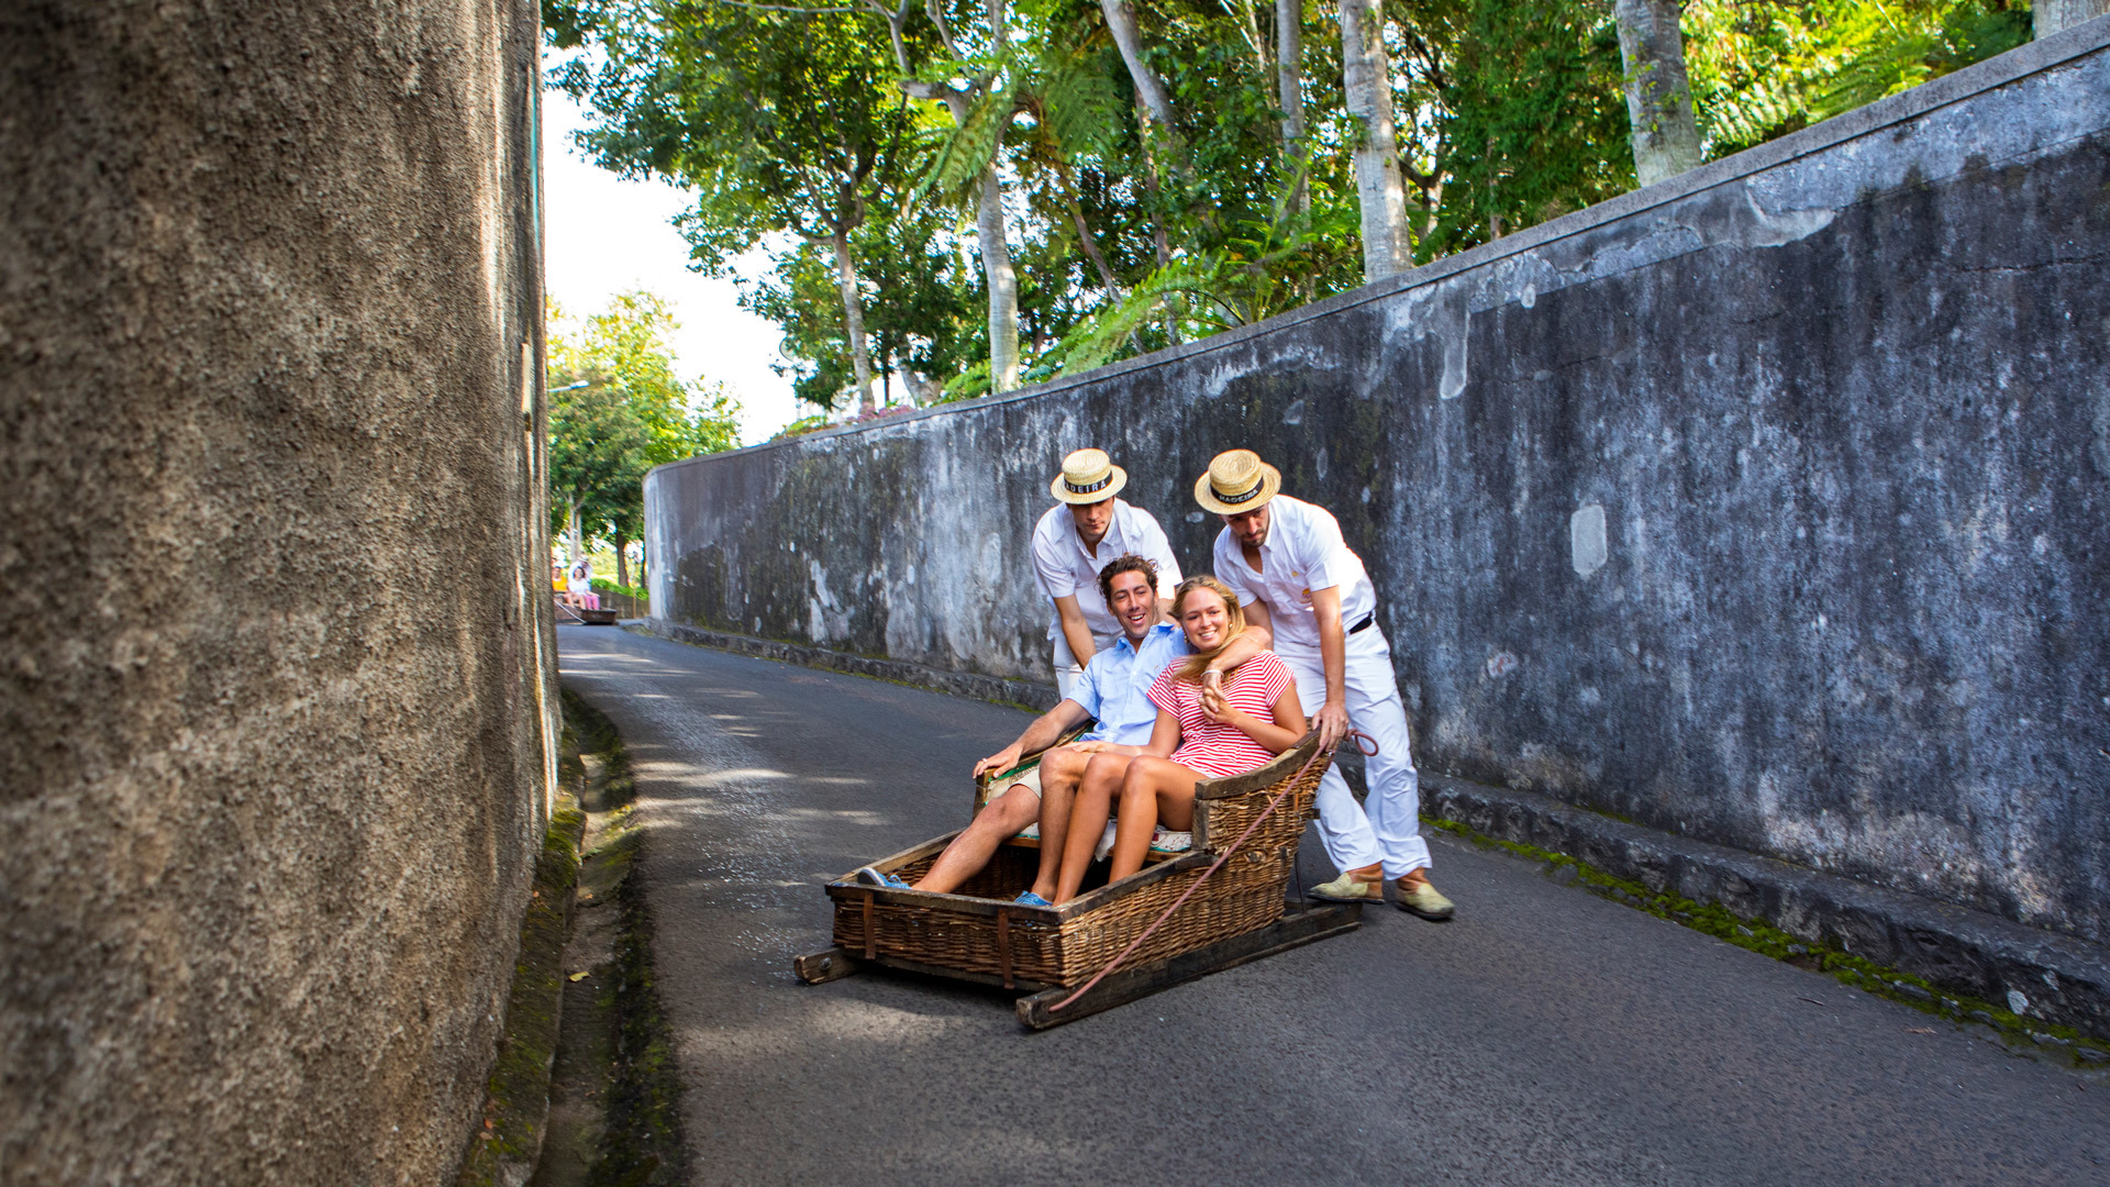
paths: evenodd
<path fill-rule="evenodd" d="M 1070 695 L 1034 718 L 1017 741 L 975 762 L 975 777 L 979 779 L 983 771 L 1011 771 L 1021 756 L 1053 746 L 1055 739 L 1085 720 L 1097 720 L 1091 733 L 1070 746 L 1044 752 L 1036 769 L 1021 771 L 1000 794 L 990 796 L 990 803 L 975 813 L 975 822 L 960 836 L 954 836 L 931 872 L 914 885 L 871 866 L 857 870 L 859 881 L 952 893 L 990 864 L 998 845 L 1040 822 L 1040 872 L 1032 889 L 1019 893 L 1017 902 L 1049 906 L 1063 851 L 1063 826 L 1070 822 L 1070 796 L 1085 775 L 1085 765 L 1093 762 L 1095 756 L 1104 765 L 1142 754 L 1158 720 L 1158 708 L 1150 703 L 1150 686 L 1190 651 L 1188 636 L 1179 627 L 1158 621 L 1156 566 L 1148 560 L 1135 553 L 1114 558 L 1099 572 L 1099 596 L 1114 613 L 1120 638 L 1114 646 L 1093 655 L 1085 674 L 1070 686 Z M 1268 634 L 1249 629 L 1232 646 L 1209 657 L 1207 667 L 1217 672 L 1236 667 L 1266 646 Z M 1106 813 L 1101 813 L 1101 830 L 1104 819 Z M 1095 832 L 1093 841 L 1097 836 Z"/>

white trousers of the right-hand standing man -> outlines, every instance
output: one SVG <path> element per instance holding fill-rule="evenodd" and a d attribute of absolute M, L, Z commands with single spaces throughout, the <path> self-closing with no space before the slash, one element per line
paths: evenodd
<path fill-rule="evenodd" d="M 1372 623 L 1348 636 L 1342 691 L 1348 724 L 1378 743 L 1378 754 L 1365 760 L 1369 796 L 1359 805 L 1340 767 L 1329 767 L 1319 781 L 1319 839 L 1325 855 L 1342 870 L 1384 864 L 1384 877 L 1399 879 L 1428 868 L 1428 841 L 1422 839 L 1422 777 L 1414 771 L 1414 735 L 1407 729 L 1407 708 L 1399 701 L 1399 680 L 1393 676 L 1393 648 L 1384 632 Z M 1325 661 L 1302 648 L 1279 653 L 1298 678 L 1298 701 L 1304 714 L 1325 703 Z M 1355 739 L 1342 741 L 1342 750 Z"/>

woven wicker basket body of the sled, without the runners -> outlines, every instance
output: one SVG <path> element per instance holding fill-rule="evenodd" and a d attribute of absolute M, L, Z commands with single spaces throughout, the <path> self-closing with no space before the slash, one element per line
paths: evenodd
<path fill-rule="evenodd" d="M 1006 988 L 1080 984 L 1194 885 L 1293 781 L 1274 815 L 1127 963 L 1150 965 L 1266 927 L 1283 915 L 1304 822 L 1312 817 L 1312 794 L 1331 762 L 1323 756 L 1298 775 L 1317 746 L 1317 735 L 1306 735 L 1258 771 L 1205 779 L 1194 792 L 1192 853 L 1063 906 L 1011 902 L 1032 885 L 1040 858 L 1009 845 L 960 893 L 874 889 L 844 874 L 827 885 L 827 896 L 836 900 L 836 944 L 888 965 Z M 954 836 L 937 836 L 874 866 L 914 881 Z"/>

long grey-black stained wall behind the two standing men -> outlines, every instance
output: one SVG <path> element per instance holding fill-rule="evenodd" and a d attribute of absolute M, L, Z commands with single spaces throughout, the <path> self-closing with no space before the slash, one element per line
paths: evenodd
<path fill-rule="evenodd" d="M 673 621 L 1047 676 L 1066 450 L 1251 446 L 1424 767 L 2110 936 L 2110 23 L 1207 342 L 663 467 Z M 1599 530 L 1601 528 L 1601 530 Z"/>

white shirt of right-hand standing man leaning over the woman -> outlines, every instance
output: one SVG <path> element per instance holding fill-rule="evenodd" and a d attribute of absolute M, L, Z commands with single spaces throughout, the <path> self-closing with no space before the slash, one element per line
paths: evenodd
<path fill-rule="evenodd" d="M 1325 507 L 1277 494 L 1268 501 L 1268 539 L 1260 545 L 1260 572 L 1245 564 L 1239 536 L 1215 536 L 1215 577 L 1239 594 L 1241 606 L 1268 604 L 1274 651 L 1319 651 L 1312 589 L 1340 589 L 1340 629 L 1346 634 L 1378 608 L 1363 558 L 1340 539 L 1340 520 Z"/>

